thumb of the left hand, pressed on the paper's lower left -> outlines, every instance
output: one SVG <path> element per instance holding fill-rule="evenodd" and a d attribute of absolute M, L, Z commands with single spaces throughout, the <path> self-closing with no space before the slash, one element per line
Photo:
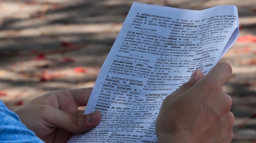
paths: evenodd
<path fill-rule="evenodd" d="M 73 115 L 52 107 L 50 116 L 45 117 L 51 127 L 61 128 L 72 133 L 86 132 L 99 124 L 101 115 L 99 111 L 86 115 Z"/>

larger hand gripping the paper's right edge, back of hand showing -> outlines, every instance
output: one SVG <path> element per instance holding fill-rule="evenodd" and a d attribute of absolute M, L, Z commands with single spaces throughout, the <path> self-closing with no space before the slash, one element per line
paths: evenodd
<path fill-rule="evenodd" d="M 158 143 L 231 142 L 232 99 L 222 90 L 231 72 L 230 65 L 220 61 L 205 77 L 194 71 L 187 83 L 168 95 L 156 120 Z"/>

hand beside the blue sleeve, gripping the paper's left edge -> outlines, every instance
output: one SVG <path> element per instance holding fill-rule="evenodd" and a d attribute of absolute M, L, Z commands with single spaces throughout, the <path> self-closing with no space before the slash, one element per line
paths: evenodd
<path fill-rule="evenodd" d="M 39 96 L 14 110 L 28 129 L 45 142 L 67 142 L 74 133 L 86 132 L 100 122 L 100 112 L 84 115 L 92 88 L 60 90 Z"/>

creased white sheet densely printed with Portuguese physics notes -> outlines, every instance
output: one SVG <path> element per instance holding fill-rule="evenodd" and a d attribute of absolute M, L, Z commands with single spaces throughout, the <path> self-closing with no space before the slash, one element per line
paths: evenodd
<path fill-rule="evenodd" d="M 85 114 L 100 111 L 101 122 L 69 142 L 155 143 L 165 97 L 195 69 L 207 74 L 238 33 L 234 5 L 195 11 L 133 3 L 86 107 Z"/>

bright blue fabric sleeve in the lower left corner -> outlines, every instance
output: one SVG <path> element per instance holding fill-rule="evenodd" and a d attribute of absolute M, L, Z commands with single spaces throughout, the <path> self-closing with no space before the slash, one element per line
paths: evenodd
<path fill-rule="evenodd" d="M 20 122 L 20 118 L 14 112 L 8 110 L 0 100 L 0 142 L 1 143 L 25 143 L 43 142 L 35 133 L 28 130 Z"/>

